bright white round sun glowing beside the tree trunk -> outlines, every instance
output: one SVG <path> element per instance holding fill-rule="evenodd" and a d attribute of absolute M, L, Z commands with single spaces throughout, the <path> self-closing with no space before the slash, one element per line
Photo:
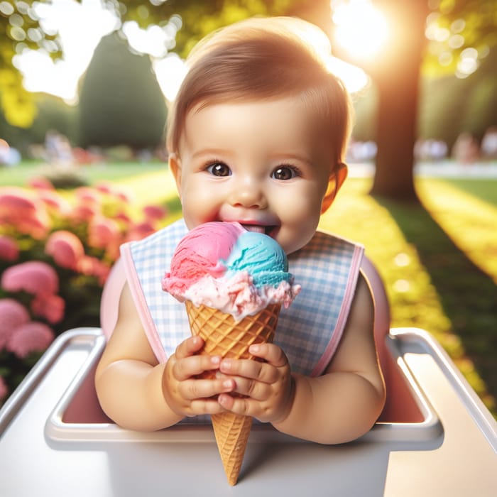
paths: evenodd
<path fill-rule="evenodd" d="M 332 0 L 335 38 L 351 55 L 367 59 L 388 40 L 388 23 L 371 0 Z"/>

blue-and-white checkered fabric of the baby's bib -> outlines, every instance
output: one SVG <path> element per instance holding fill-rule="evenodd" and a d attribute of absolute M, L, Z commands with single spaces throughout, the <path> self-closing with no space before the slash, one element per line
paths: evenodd
<path fill-rule="evenodd" d="M 173 252 L 187 232 L 180 220 L 141 241 L 131 242 L 131 258 L 141 290 L 167 356 L 190 336 L 185 305 L 162 290 Z M 310 375 L 332 341 L 339 316 L 350 305 L 363 249 L 318 231 L 304 248 L 288 258 L 290 272 L 302 291 L 282 309 L 275 343 L 288 356 L 292 371 Z M 346 301 L 346 296 L 349 301 Z M 345 306 L 345 307 L 344 307 Z M 343 323 L 341 324 L 343 327 Z"/>

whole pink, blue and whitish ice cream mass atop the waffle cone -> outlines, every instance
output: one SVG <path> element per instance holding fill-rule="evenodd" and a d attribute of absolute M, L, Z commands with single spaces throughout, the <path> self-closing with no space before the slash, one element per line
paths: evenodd
<path fill-rule="evenodd" d="M 162 286 L 180 302 L 214 307 L 237 321 L 270 304 L 288 307 L 300 291 L 278 242 L 237 222 L 209 222 L 189 231 Z"/>

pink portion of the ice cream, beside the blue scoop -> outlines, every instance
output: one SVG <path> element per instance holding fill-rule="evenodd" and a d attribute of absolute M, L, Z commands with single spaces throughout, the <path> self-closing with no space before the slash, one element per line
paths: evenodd
<path fill-rule="evenodd" d="M 226 266 L 221 261 L 229 257 L 244 231 L 239 223 L 225 222 L 209 222 L 192 229 L 176 248 L 164 289 L 181 295 L 206 275 L 222 276 Z"/>

